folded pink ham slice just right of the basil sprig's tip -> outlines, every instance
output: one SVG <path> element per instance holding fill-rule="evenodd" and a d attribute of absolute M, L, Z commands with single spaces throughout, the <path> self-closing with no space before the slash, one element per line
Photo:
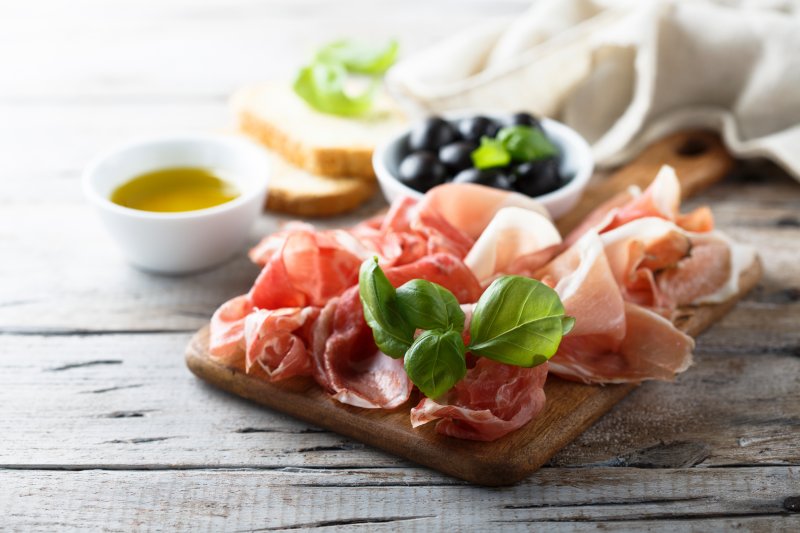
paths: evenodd
<path fill-rule="evenodd" d="M 694 341 L 658 314 L 625 302 L 603 242 L 590 232 L 539 272 L 575 327 L 550 371 L 585 383 L 670 380 L 691 364 Z"/>

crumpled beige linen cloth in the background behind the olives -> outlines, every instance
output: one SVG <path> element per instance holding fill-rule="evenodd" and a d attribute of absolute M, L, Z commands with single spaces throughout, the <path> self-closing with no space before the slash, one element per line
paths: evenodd
<path fill-rule="evenodd" d="M 790 1 L 539 0 L 387 76 L 412 113 L 529 110 L 616 165 L 666 133 L 721 132 L 800 179 L 800 6 Z"/>

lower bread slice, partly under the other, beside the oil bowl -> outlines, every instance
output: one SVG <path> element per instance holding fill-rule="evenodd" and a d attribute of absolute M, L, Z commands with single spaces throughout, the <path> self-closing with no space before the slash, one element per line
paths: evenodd
<path fill-rule="evenodd" d="M 267 209 L 301 217 L 339 215 L 369 199 L 377 186 L 361 178 L 329 178 L 298 168 L 270 152 Z"/>

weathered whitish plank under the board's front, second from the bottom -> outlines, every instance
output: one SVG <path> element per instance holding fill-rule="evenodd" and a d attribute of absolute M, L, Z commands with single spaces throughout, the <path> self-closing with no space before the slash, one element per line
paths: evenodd
<path fill-rule="evenodd" d="M 0 336 L 0 466 L 407 464 L 205 385 L 184 367 L 188 339 Z M 644 384 L 552 463 L 800 465 L 797 376 L 789 355 L 700 352 L 676 383 Z"/>

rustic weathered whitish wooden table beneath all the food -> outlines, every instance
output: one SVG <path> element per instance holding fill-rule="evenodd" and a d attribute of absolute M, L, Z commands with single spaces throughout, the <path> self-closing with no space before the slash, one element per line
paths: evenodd
<path fill-rule="evenodd" d="M 692 202 L 765 266 L 698 339 L 695 366 L 643 385 L 504 489 L 204 385 L 184 346 L 256 268 L 242 255 L 189 277 L 134 270 L 82 199 L 98 151 L 224 127 L 235 87 L 291 75 L 315 43 L 396 35 L 417 49 L 524 7 L 3 3 L 0 529 L 800 529 L 800 185 L 779 171 L 742 168 Z M 252 241 L 274 227 L 265 215 Z"/>

